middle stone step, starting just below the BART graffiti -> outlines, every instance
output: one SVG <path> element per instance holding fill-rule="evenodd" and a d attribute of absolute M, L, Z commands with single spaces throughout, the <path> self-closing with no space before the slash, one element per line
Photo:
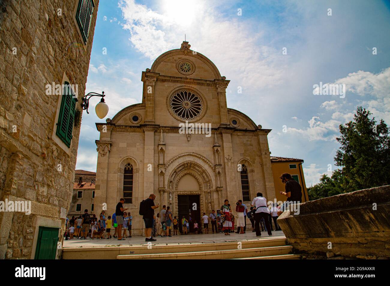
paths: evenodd
<path fill-rule="evenodd" d="M 117 259 L 229 259 L 252 256 L 277 256 L 290 253 L 292 246 L 269 246 L 246 249 L 191 251 L 176 253 L 151 253 L 118 255 Z"/>

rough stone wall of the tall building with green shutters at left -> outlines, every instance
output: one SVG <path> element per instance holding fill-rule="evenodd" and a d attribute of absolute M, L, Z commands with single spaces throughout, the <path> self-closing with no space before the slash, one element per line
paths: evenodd
<path fill-rule="evenodd" d="M 30 215 L 0 212 L 1 259 L 32 256 L 38 217 L 61 221 L 62 241 L 60 209 L 71 202 L 80 125 L 73 128 L 70 151 L 55 143 L 62 96 L 46 95 L 46 84 L 62 84 L 65 73 L 78 84 L 81 111 L 99 4 L 94 2 L 85 47 L 74 21 L 78 0 L 0 2 L 0 200 L 30 200 L 33 209 Z"/>

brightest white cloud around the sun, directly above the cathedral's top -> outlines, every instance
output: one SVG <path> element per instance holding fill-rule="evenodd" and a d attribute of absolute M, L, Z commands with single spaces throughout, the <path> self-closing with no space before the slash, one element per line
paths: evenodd
<path fill-rule="evenodd" d="M 179 48 L 184 40 L 181 35 L 186 33 L 191 35 L 187 40 L 193 48 L 207 51 L 206 56 L 220 68 L 222 75 L 238 79 L 239 82 L 232 83 L 237 84 L 232 86 L 234 89 L 242 86 L 248 92 L 285 82 L 287 56 L 259 44 L 263 35 L 254 31 L 253 23 L 226 19 L 209 2 L 197 1 L 196 5 L 182 2 L 165 1 L 162 12 L 156 12 L 134 0 L 121 0 L 119 7 L 126 22 L 123 28 L 129 30 L 129 40 L 135 49 L 155 60 L 165 51 Z M 187 22 L 196 25 L 184 25 Z"/>

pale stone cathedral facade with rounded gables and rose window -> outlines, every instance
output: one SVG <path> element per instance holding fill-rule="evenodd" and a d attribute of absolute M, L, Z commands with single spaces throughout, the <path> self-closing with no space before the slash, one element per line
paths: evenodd
<path fill-rule="evenodd" d="M 188 42 L 161 54 L 142 72 L 142 103 L 119 111 L 100 132 L 94 213 L 106 204 L 115 212 L 119 198 L 133 216 L 133 234 L 144 228 L 140 202 L 156 195 L 174 216 L 200 221 L 227 198 L 250 202 L 257 192 L 274 200 L 267 135 L 243 112 L 226 104 L 229 80 Z M 211 136 L 180 132 L 180 124 L 211 124 Z M 250 203 L 247 205 L 249 206 Z"/>

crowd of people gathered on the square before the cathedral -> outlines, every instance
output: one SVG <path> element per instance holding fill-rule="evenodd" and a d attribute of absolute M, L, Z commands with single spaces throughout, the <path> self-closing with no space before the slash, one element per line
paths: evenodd
<path fill-rule="evenodd" d="M 285 191 L 281 191 L 280 194 L 287 197 L 287 202 L 299 203 L 302 195 L 300 184 L 288 173 L 282 174 L 280 179 L 285 183 Z M 155 214 L 155 210 L 159 208 L 159 204 L 154 205 L 155 199 L 156 196 L 151 194 L 140 204 L 139 213 L 143 216 L 145 224 L 145 241 L 156 241 L 154 237 L 172 237 L 172 235 L 178 235 L 178 232 L 187 235 L 190 229 L 195 234 L 207 234 L 211 228 L 212 233 L 230 235 L 236 226 L 236 233 L 243 234 L 246 232 L 246 218 L 250 220 L 252 232 L 255 232 L 257 237 L 261 236 L 261 232 L 264 231 L 272 235 L 272 230 L 281 230 L 277 218 L 285 210 L 284 204 L 267 205 L 266 198 L 259 192 L 252 200 L 249 209 L 242 200 L 236 202 L 236 216 L 232 212 L 229 200 L 225 200 L 219 210 L 212 210 L 208 215 L 203 212 L 200 221 L 197 221 L 191 218 L 191 215 L 188 219 L 184 216 L 182 218 L 173 216 L 170 206 L 166 205 L 163 205 L 161 211 Z M 68 237 L 70 239 L 86 239 L 87 237 L 111 239 L 114 237 L 118 240 L 125 240 L 131 237 L 133 216 L 127 208 L 123 207 L 124 202 L 124 198 L 121 198 L 115 212 L 107 218 L 105 211 L 96 217 L 95 214 L 90 215 L 87 209 L 78 218 L 73 216 L 67 221 L 66 239 Z"/>

